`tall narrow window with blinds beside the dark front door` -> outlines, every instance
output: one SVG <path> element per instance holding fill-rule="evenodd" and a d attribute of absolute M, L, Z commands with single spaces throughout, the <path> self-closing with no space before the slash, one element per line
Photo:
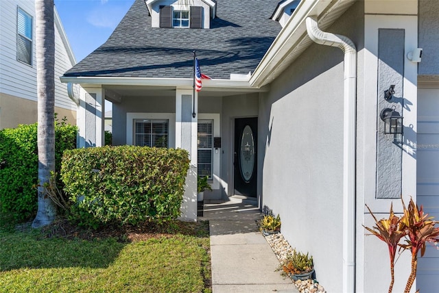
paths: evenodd
<path fill-rule="evenodd" d="M 198 176 L 212 179 L 213 120 L 198 120 Z"/>

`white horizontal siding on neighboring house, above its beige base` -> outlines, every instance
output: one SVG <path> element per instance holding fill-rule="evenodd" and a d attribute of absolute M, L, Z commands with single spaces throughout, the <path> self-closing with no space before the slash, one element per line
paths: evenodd
<path fill-rule="evenodd" d="M 16 60 L 16 10 L 17 5 L 33 16 L 32 27 L 32 66 Z M 0 0 L 0 92 L 15 97 L 36 101 L 36 43 L 34 1 Z M 55 105 L 75 110 L 75 104 L 67 94 L 67 84 L 62 84 L 60 76 L 73 64 L 64 47 L 60 32 L 55 27 Z"/>

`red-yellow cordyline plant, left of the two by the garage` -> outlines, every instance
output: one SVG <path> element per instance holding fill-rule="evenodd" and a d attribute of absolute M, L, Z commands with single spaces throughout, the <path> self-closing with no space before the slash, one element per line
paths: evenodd
<path fill-rule="evenodd" d="M 399 240 L 403 238 L 406 235 L 405 229 L 401 229 L 401 218 L 398 216 L 395 216 L 393 213 L 393 207 L 390 205 L 390 215 L 389 218 L 377 220 L 375 215 L 372 213 L 368 205 L 366 205 L 368 208 L 370 214 L 375 220 L 375 226 L 372 228 L 364 227 L 366 228 L 372 235 L 377 236 L 379 240 L 382 240 L 385 242 L 389 249 L 389 255 L 390 255 L 390 275 L 392 277 L 390 281 L 389 286 L 389 293 L 392 292 L 393 284 L 394 284 L 394 264 L 395 264 L 395 255 L 396 255 L 396 248 L 398 247 Z"/>

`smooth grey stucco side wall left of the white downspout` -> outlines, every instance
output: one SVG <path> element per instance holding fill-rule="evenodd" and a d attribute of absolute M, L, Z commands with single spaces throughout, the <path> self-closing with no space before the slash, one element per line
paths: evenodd
<path fill-rule="evenodd" d="M 363 46 L 364 3 L 327 31 Z M 263 205 L 282 233 L 311 253 L 316 277 L 342 292 L 344 62 L 340 49 L 312 44 L 260 99 Z"/>

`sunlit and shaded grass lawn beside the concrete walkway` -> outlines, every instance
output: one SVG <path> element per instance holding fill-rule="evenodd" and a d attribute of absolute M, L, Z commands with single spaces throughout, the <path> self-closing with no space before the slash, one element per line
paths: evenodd
<path fill-rule="evenodd" d="M 1 292 L 211 292 L 207 223 L 163 229 L 83 239 L 0 216 Z"/>

